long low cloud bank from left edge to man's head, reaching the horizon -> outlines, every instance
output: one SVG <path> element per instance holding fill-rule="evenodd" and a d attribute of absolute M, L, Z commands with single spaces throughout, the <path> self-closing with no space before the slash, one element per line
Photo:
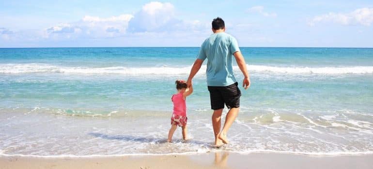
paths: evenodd
<path fill-rule="evenodd" d="M 190 46 L 191 41 L 202 41 L 211 33 L 211 22 L 197 19 L 179 19 L 171 3 L 150 2 L 134 15 L 121 14 L 110 17 L 82 16 L 80 20 L 48 24 L 44 29 L 12 31 L 0 28 L 2 39 L 13 42 L 40 42 L 35 44 L 69 46 L 78 42 L 117 42 L 115 45 L 157 46 L 159 39 L 168 39 L 168 46 Z M 203 36 L 202 36 L 203 35 Z M 110 39 L 111 41 L 109 41 Z M 147 41 L 144 43 L 144 39 Z M 173 39 L 178 39 L 175 44 Z M 121 40 L 121 41 L 119 41 Z M 118 42 L 119 41 L 119 42 Z M 71 43 L 70 43 L 71 42 Z M 82 44 L 82 43 L 79 43 Z M 105 43 L 104 45 L 109 45 Z"/>

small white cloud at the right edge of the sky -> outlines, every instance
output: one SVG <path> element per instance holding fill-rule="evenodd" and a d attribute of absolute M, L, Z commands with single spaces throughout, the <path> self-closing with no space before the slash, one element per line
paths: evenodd
<path fill-rule="evenodd" d="M 353 12 L 342 14 L 333 13 L 315 16 L 308 25 L 315 26 L 316 23 L 336 23 L 341 25 L 364 25 L 370 26 L 373 22 L 373 8 L 360 8 Z"/>

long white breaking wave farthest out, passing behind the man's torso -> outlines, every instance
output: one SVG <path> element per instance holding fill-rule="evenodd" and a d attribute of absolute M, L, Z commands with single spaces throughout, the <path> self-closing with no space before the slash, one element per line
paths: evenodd
<path fill-rule="evenodd" d="M 361 74 L 373 73 L 373 66 L 352 67 L 276 67 L 262 65 L 247 65 L 250 72 L 264 73 L 290 73 L 290 74 Z M 63 67 L 40 63 L 28 64 L 0 64 L 0 73 L 81 73 L 81 74 L 188 74 L 191 66 L 185 67 Z M 238 66 L 234 71 L 240 71 Z M 203 65 L 200 73 L 205 73 L 206 65 Z"/>

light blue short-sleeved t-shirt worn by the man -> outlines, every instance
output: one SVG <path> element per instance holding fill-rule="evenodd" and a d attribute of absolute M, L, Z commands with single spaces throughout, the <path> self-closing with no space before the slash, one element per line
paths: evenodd
<path fill-rule="evenodd" d="M 240 51 L 236 39 L 224 32 L 214 33 L 201 46 L 198 59 L 207 58 L 207 85 L 228 86 L 236 83 L 233 75 L 232 56 Z"/>

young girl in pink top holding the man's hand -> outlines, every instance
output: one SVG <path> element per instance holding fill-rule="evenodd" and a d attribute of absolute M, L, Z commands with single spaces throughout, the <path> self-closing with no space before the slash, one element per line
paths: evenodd
<path fill-rule="evenodd" d="M 171 142 L 173 132 L 175 132 L 177 126 L 183 129 L 183 139 L 187 140 L 187 105 L 185 99 L 187 96 L 192 94 L 193 87 L 190 85 L 187 87 L 187 83 L 183 80 L 177 80 L 175 82 L 177 93 L 172 95 L 171 101 L 173 102 L 173 113 L 171 116 L 171 128 L 169 131 L 168 142 Z"/>

